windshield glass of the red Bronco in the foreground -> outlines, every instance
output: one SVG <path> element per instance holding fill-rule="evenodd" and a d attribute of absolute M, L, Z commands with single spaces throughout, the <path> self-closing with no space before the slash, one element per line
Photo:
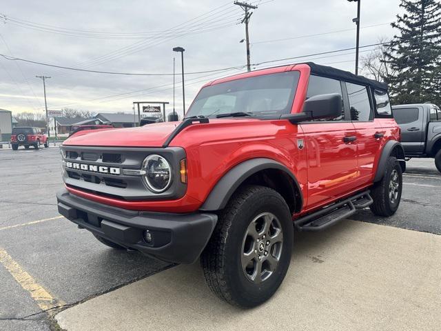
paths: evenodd
<path fill-rule="evenodd" d="M 274 116 L 291 112 L 300 72 L 227 81 L 207 86 L 199 92 L 185 117 L 216 117 L 222 114 L 248 113 Z"/>

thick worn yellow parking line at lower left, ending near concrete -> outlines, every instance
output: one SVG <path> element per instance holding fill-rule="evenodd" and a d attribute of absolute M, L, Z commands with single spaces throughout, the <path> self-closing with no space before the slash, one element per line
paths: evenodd
<path fill-rule="evenodd" d="M 63 301 L 54 299 L 50 293 L 39 285 L 32 276 L 23 270 L 19 263 L 14 261 L 10 254 L 0 248 L 0 263 L 10 272 L 12 277 L 21 285 L 21 287 L 30 293 L 32 299 L 37 302 L 41 310 L 50 310 L 59 305 L 63 305 Z M 54 310 L 48 311 L 49 314 L 55 313 Z"/>

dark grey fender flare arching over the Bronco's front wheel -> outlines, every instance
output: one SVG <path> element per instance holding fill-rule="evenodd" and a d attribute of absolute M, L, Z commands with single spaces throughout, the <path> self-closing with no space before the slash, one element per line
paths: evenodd
<path fill-rule="evenodd" d="M 300 196 L 300 208 L 302 208 L 302 191 L 300 190 L 300 185 L 298 184 L 296 177 L 294 177 L 294 174 L 292 174 L 282 163 L 272 159 L 257 158 L 243 161 L 226 172 L 216 185 L 214 185 L 212 191 L 209 192 L 207 199 L 205 199 L 205 202 L 199 210 L 214 211 L 225 208 L 225 205 L 227 205 L 227 202 L 232 197 L 233 193 L 237 190 L 240 184 L 245 181 L 245 179 L 249 178 L 256 172 L 266 169 L 282 170 L 293 179 Z"/>

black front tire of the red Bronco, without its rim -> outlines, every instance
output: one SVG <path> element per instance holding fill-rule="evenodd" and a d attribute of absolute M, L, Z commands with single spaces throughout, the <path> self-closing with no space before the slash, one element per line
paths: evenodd
<path fill-rule="evenodd" d="M 261 283 L 254 283 L 243 270 L 241 258 L 245 233 L 260 214 L 274 214 L 283 234 L 276 268 Z M 294 226 L 283 197 L 271 188 L 247 185 L 236 192 L 219 214 L 218 223 L 201 254 L 205 281 L 217 297 L 242 308 L 267 301 L 278 289 L 291 261 Z M 256 252 L 256 251 L 255 251 Z"/>

